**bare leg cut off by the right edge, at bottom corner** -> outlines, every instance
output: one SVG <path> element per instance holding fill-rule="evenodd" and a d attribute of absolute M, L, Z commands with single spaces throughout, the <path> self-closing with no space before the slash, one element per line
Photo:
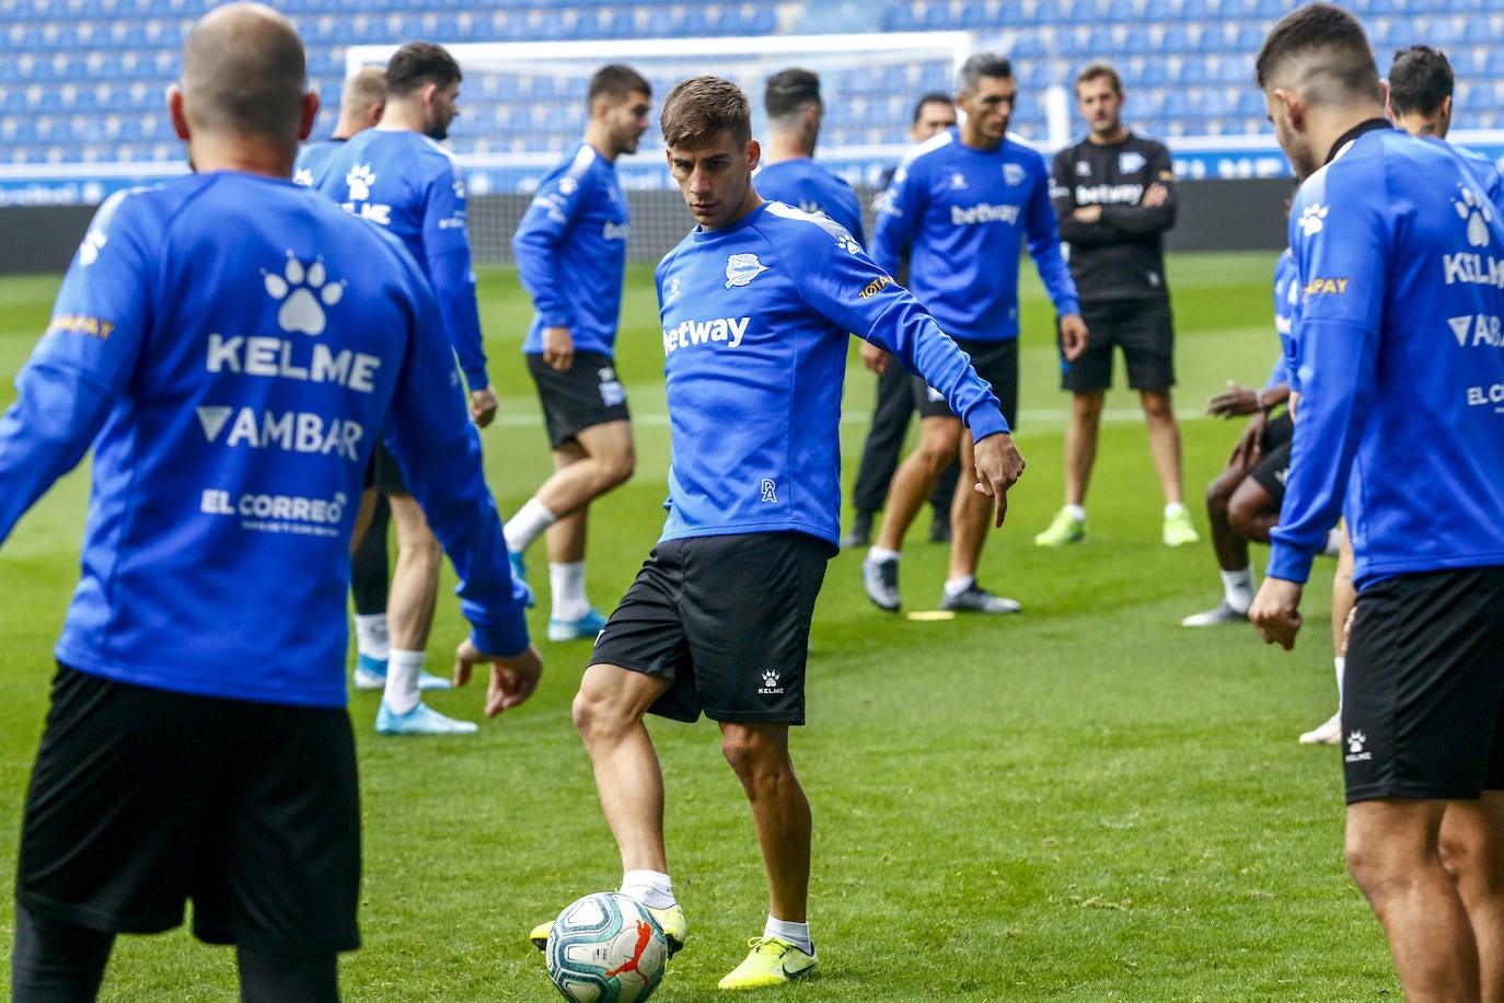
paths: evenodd
<path fill-rule="evenodd" d="M 1457 884 L 1478 946 L 1483 1000 L 1504 1000 L 1504 792 L 1448 801 L 1441 817 L 1441 866 Z"/>

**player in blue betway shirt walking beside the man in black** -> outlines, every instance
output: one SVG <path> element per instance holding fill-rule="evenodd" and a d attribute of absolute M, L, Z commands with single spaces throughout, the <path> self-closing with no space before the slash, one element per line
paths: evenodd
<path fill-rule="evenodd" d="M 1018 408 L 1018 257 L 1029 256 L 1060 316 L 1066 359 L 1086 350 L 1086 323 L 1075 283 L 1060 256 L 1050 173 L 1044 158 L 1008 137 L 1018 99 L 1012 65 L 979 53 L 961 66 L 957 107 L 966 120 L 908 155 L 877 217 L 872 260 L 889 274 L 910 250 L 908 287 L 945 331 L 972 356 L 1012 423 Z M 877 544 L 862 562 L 868 597 L 881 609 L 902 605 L 898 558 L 904 534 L 957 448 L 972 465 L 961 421 L 934 386 L 914 382 L 919 448 L 898 468 L 889 489 Z M 951 508 L 951 570 L 942 606 L 964 612 L 1011 614 L 1018 603 L 976 583 L 987 540 L 987 504 L 958 490 Z"/>

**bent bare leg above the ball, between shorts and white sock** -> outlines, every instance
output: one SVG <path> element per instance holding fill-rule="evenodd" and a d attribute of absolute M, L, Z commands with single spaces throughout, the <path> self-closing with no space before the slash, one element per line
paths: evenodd
<path fill-rule="evenodd" d="M 600 808 L 621 851 L 623 871 L 668 874 L 663 850 L 663 771 L 642 716 L 666 689 L 662 675 L 597 663 L 575 696 L 575 728 L 596 773 Z"/>

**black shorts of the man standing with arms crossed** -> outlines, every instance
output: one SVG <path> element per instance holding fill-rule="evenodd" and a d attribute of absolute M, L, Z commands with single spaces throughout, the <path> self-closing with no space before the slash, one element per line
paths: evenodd
<path fill-rule="evenodd" d="M 1175 386 L 1175 319 L 1167 299 L 1083 302 L 1081 319 L 1090 332 L 1086 353 L 1066 362 L 1062 346 L 1060 389 L 1075 394 L 1110 389 L 1113 346 L 1123 350 L 1133 389 Z"/>

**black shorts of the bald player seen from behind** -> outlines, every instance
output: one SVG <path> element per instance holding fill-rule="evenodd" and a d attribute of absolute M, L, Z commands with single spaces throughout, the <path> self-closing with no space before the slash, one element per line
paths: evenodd
<path fill-rule="evenodd" d="M 271 955 L 359 946 L 361 812 L 343 708 L 168 693 L 59 666 L 17 899 L 104 932 L 179 926 Z"/>

